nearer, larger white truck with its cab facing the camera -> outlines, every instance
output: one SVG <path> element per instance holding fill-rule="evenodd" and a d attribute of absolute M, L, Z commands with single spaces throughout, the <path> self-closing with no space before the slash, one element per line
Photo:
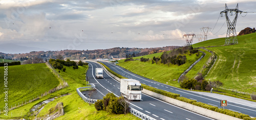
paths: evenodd
<path fill-rule="evenodd" d="M 140 81 L 135 79 L 121 79 L 120 92 L 121 96 L 128 100 L 141 100 L 141 90 L 143 87 Z"/>

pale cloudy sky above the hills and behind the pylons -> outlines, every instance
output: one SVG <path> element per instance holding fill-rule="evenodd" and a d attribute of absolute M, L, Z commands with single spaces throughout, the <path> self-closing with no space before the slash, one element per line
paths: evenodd
<path fill-rule="evenodd" d="M 184 34 L 200 35 L 203 26 L 211 27 L 208 39 L 225 37 L 225 3 L 256 11 L 254 0 L 1 0 L 0 52 L 182 46 Z M 239 14 L 237 32 L 255 19 Z"/>

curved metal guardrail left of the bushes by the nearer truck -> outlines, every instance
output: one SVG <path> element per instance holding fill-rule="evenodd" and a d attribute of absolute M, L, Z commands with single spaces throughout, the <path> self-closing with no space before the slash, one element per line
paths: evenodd
<path fill-rule="evenodd" d="M 84 102 L 88 102 L 88 103 L 90 102 L 90 103 L 94 104 L 95 102 L 97 102 L 97 99 L 91 99 L 90 100 L 89 98 L 83 96 L 82 93 L 81 93 L 81 91 L 86 91 L 86 90 L 95 88 L 95 85 L 92 84 L 92 83 L 90 83 L 88 85 L 91 85 L 91 86 L 76 88 L 76 92 L 83 99 Z"/>

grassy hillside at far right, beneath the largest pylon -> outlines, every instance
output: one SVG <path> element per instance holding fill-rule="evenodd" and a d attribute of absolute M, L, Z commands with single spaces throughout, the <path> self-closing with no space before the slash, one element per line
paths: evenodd
<path fill-rule="evenodd" d="M 238 36 L 239 44 L 222 46 L 225 38 L 212 39 L 194 44 L 208 47 L 218 59 L 205 79 L 220 80 L 223 89 L 240 92 L 256 92 L 256 33 Z"/>

